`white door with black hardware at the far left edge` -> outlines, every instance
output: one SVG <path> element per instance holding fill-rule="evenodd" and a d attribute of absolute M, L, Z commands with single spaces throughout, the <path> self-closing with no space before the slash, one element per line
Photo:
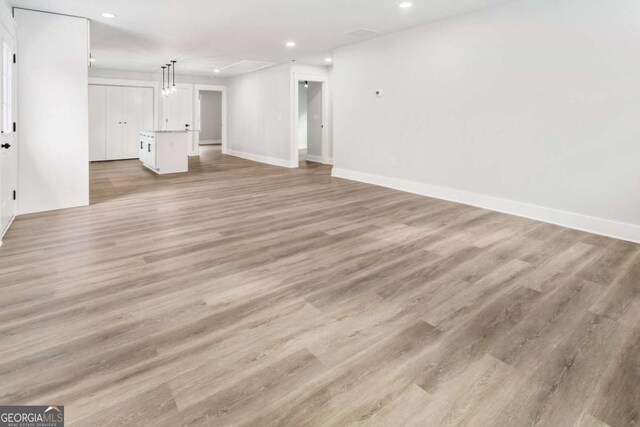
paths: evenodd
<path fill-rule="evenodd" d="M 4 29 L 2 36 L 2 133 L 0 134 L 0 237 L 9 227 L 17 211 L 18 138 L 14 112 L 16 79 L 13 54 L 15 39 Z"/>

